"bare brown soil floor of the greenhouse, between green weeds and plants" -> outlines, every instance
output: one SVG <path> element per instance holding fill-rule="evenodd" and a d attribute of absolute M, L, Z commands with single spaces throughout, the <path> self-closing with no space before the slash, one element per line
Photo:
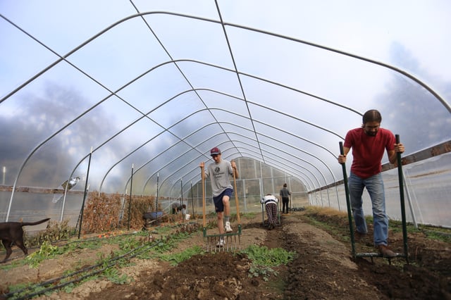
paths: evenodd
<path fill-rule="evenodd" d="M 268 281 L 249 277 L 251 262 L 239 253 L 199 254 L 177 266 L 136 259 L 135 265 L 121 270 L 133 278 L 129 284 L 98 279 L 70 293 L 55 292 L 39 299 L 451 299 L 451 243 L 430 239 L 421 230 L 409 232 L 407 263 L 405 257 L 352 258 L 346 215 L 295 211 L 282 215 L 281 224 L 273 230 L 264 226 L 259 214 L 241 218 L 241 223 L 241 249 L 250 244 L 280 247 L 295 251 L 295 259 L 273 268 L 277 273 Z M 236 228 L 236 220 L 232 225 Z M 394 251 L 404 252 L 400 227 L 390 226 L 389 241 Z M 202 231 L 196 232 L 177 251 L 205 244 Z M 376 251 L 372 232 L 357 241 L 355 249 L 358 254 Z M 94 252 L 44 261 L 37 269 L 0 270 L 0 288 L 4 293 L 10 284 L 55 277 L 80 265 L 82 257 L 96 256 Z M 13 256 L 23 258 L 18 251 Z"/>

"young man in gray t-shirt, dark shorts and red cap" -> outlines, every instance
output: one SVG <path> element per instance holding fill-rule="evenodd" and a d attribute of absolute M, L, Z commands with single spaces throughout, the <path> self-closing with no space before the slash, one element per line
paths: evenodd
<path fill-rule="evenodd" d="M 224 228 L 226 232 L 232 232 L 230 227 L 230 196 L 233 193 L 233 186 L 230 183 L 230 175 L 235 173 L 235 178 L 238 177 L 237 166 L 235 161 L 226 161 L 221 158 L 221 150 L 214 147 L 210 151 L 211 158 L 214 163 L 210 163 L 204 169 L 206 177 L 210 178 L 211 190 L 213 192 L 213 201 L 215 211 L 218 215 L 218 230 L 219 234 L 223 235 Z M 200 163 L 200 168 L 204 168 L 205 163 Z M 224 246 L 223 237 L 220 238 L 217 246 Z"/>

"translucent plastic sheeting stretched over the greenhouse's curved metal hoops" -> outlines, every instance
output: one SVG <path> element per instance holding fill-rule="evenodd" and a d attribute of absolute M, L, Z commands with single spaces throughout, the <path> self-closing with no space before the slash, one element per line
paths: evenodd
<path fill-rule="evenodd" d="M 449 145 L 450 14 L 446 1 L 3 1 L 0 218 L 20 215 L 20 187 L 88 169 L 70 192 L 154 195 L 158 177 L 160 195 L 182 182 L 186 197 L 214 146 L 342 209 L 338 143 L 365 111 L 381 111 L 404 157 Z M 449 225 L 449 152 L 405 165 L 419 222 Z M 263 177 L 242 179 L 262 193 Z M 77 197 L 48 209 L 76 211 Z"/>

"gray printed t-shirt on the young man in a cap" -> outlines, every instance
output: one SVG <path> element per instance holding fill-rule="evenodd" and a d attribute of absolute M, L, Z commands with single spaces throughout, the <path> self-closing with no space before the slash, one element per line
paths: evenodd
<path fill-rule="evenodd" d="M 233 189 L 230 183 L 232 172 L 230 161 L 224 159 L 221 159 L 219 163 L 210 163 L 205 169 L 205 175 L 210 177 L 211 180 L 211 191 L 214 197 L 221 194 L 225 189 Z"/>

